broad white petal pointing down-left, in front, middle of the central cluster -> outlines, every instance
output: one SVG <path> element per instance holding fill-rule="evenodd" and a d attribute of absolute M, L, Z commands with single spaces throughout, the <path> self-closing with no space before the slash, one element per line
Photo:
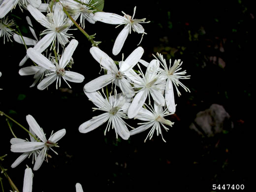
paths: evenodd
<path fill-rule="evenodd" d="M 148 92 L 145 89 L 140 90 L 136 96 L 134 96 L 130 107 L 128 109 L 128 118 L 134 118 L 140 111 L 141 107 L 144 105 L 145 100 L 148 96 Z"/>

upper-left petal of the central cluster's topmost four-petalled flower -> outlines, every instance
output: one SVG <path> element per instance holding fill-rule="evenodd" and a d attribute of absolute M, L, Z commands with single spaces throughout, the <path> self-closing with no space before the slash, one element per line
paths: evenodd
<path fill-rule="evenodd" d="M 90 49 L 90 53 L 94 57 L 94 59 L 102 65 L 105 69 L 111 71 L 112 73 L 117 73 L 118 68 L 115 64 L 115 62 L 103 51 L 101 51 L 97 47 L 92 47 Z"/>

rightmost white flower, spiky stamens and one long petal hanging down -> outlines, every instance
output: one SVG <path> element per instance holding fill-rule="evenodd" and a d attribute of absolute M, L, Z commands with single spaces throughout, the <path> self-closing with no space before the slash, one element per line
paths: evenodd
<path fill-rule="evenodd" d="M 181 87 L 183 87 L 186 92 L 190 92 L 190 90 L 179 81 L 179 79 L 190 79 L 190 75 L 185 76 L 186 70 L 179 72 L 182 69 L 179 68 L 182 65 L 181 60 L 175 60 L 172 66 L 170 60 L 170 65 L 168 67 L 165 62 L 165 59 L 163 59 L 163 56 L 159 53 L 157 53 L 157 56 L 160 59 L 160 64 L 164 68 L 160 68 L 160 73 L 163 77 L 165 77 L 165 79 L 167 79 L 165 87 L 166 106 L 168 107 L 169 112 L 174 113 L 176 110 L 176 105 L 174 101 L 173 85 L 176 88 L 178 96 L 181 95 L 181 93 L 178 90 L 179 85 L 181 85 Z"/>

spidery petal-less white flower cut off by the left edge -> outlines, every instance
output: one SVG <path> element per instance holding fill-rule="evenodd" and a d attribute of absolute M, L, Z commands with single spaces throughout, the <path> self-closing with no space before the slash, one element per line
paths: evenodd
<path fill-rule="evenodd" d="M 13 20 L 8 21 L 8 17 L 6 17 L 5 19 L 0 19 L 0 37 L 3 36 L 3 44 L 5 43 L 5 38 L 7 39 L 7 41 L 10 40 L 12 42 L 10 37 L 14 34 L 14 32 L 12 32 L 12 30 L 7 28 L 6 26 L 14 26 Z"/>

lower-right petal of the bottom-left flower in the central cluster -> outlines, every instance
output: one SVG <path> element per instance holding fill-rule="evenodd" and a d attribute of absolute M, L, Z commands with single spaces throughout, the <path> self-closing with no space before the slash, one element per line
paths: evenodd
<path fill-rule="evenodd" d="M 114 128 L 119 136 L 121 136 L 125 140 L 127 140 L 130 137 L 129 130 L 123 119 L 114 116 L 112 123 L 114 124 Z"/>

